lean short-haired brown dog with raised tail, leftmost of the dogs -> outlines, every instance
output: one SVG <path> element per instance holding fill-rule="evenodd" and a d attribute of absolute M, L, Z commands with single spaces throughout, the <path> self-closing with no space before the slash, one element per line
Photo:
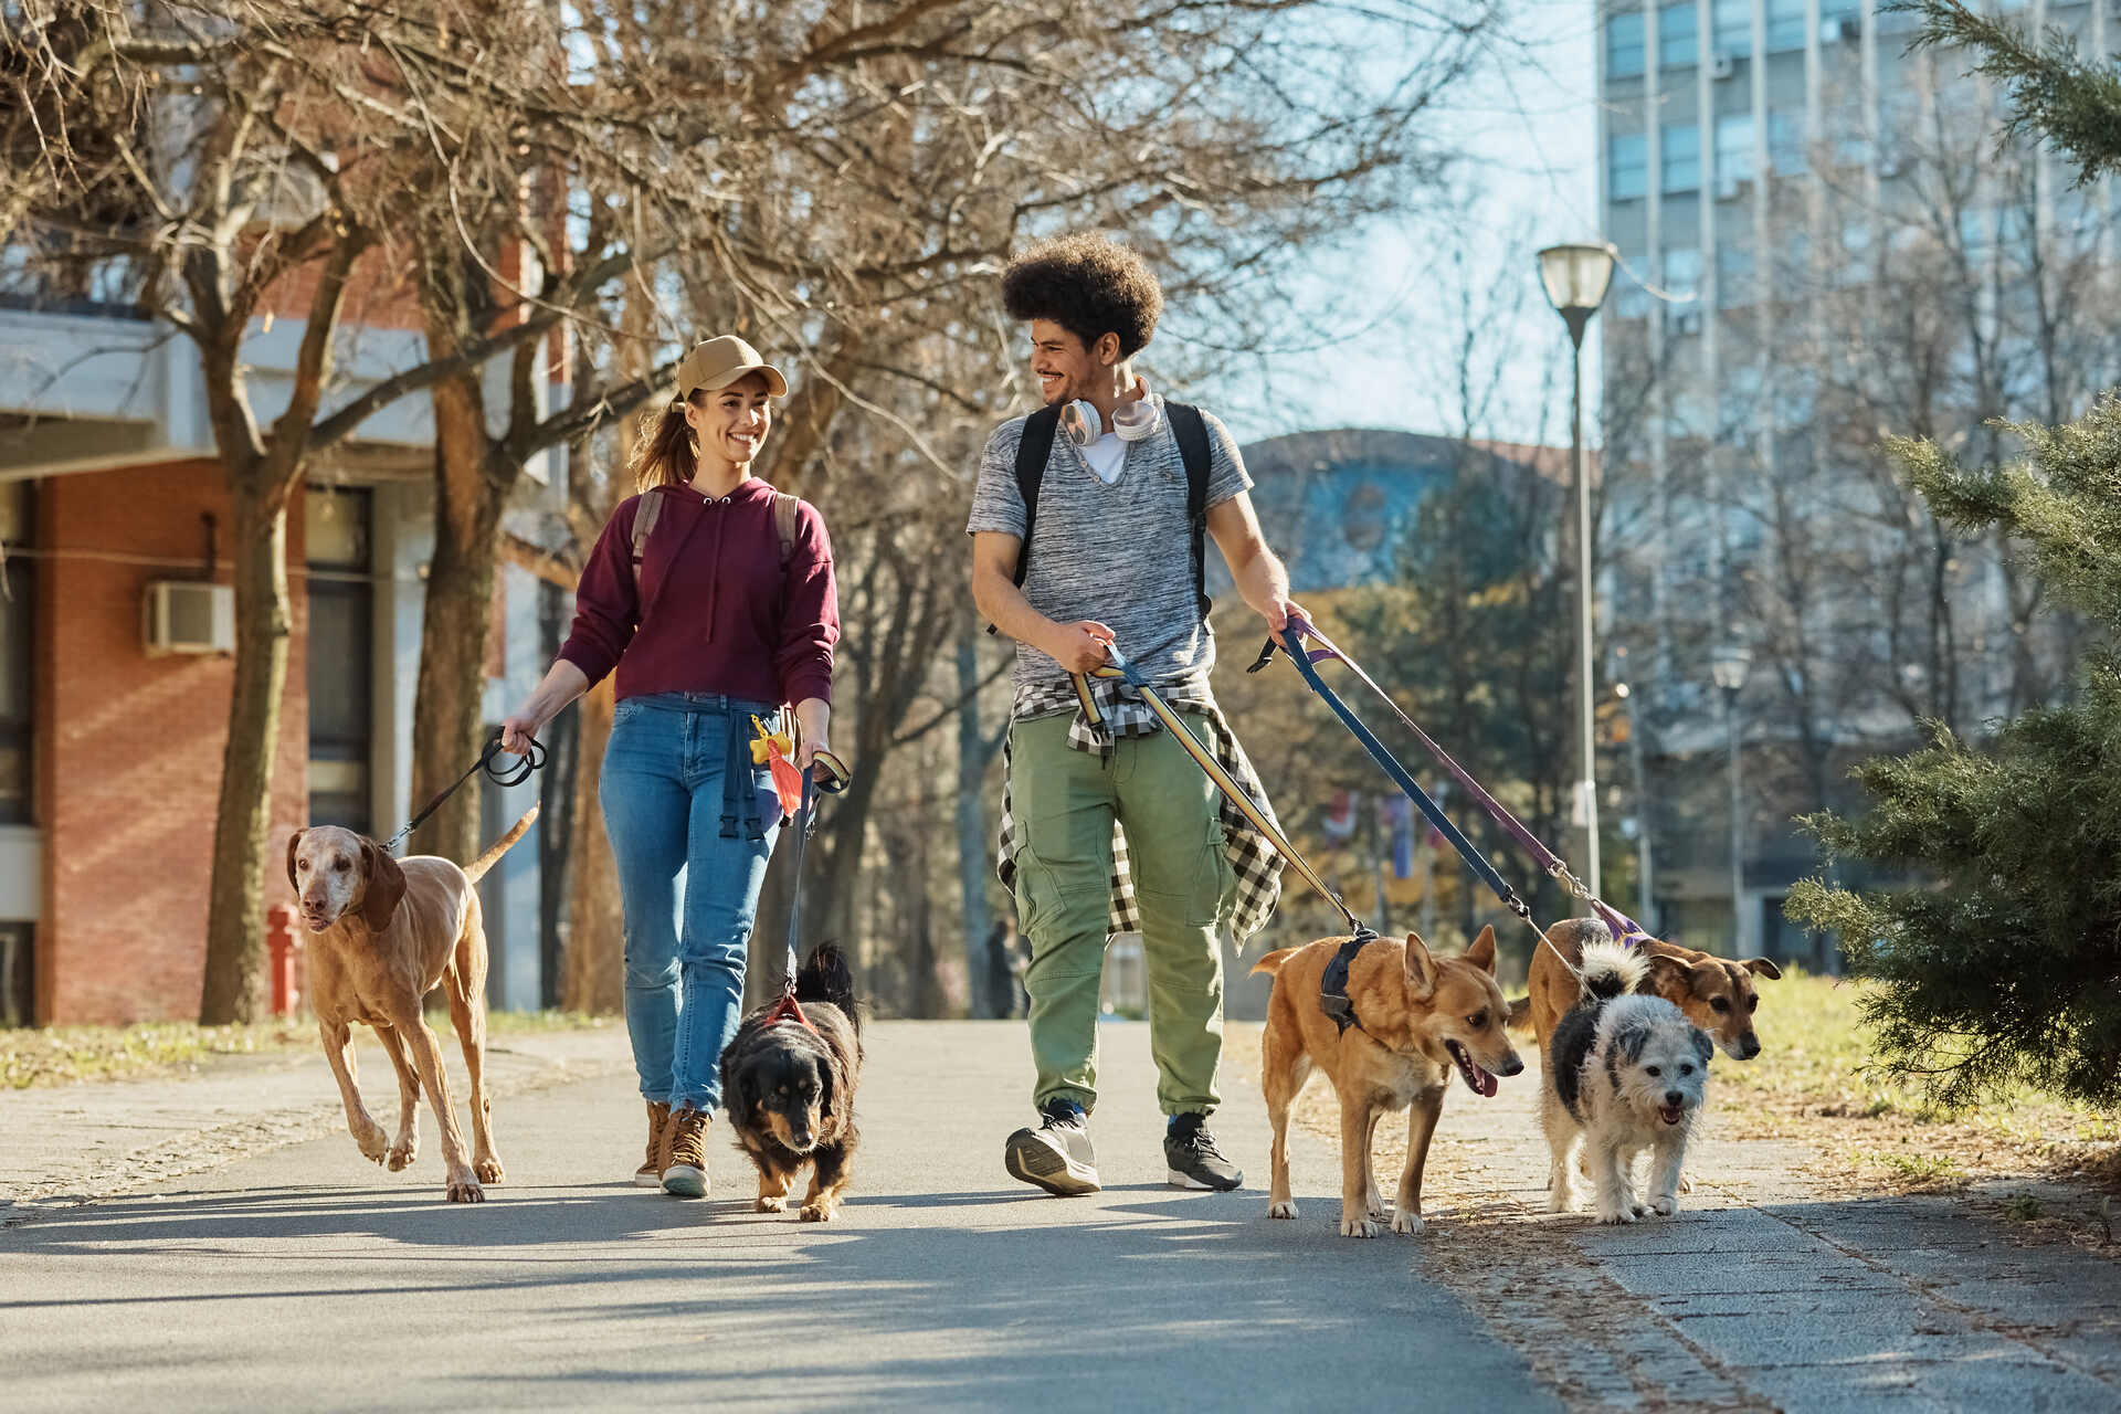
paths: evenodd
<path fill-rule="evenodd" d="M 310 929 L 310 1001 L 346 1100 L 346 1128 L 361 1153 L 392 1172 L 405 1168 L 420 1149 L 420 1088 L 426 1085 L 441 1128 L 450 1202 L 481 1202 L 486 1189 L 479 1185 L 501 1183 L 486 1100 L 486 922 L 473 884 L 534 818 L 537 806 L 469 869 L 435 854 L 390 859 L 373 839 L 337 825 L 297 829 L 286 842 L 286 882 Z M 471 1153 L 456 1128 L 441 1043 L 420 1013 L 420 998 L 437 986 L 450 998 L 471 1077 Z M 386 1138 L 361 1102 L 354 1022 L 375 1028 L 397 1068 L 397 1138 Z"/>

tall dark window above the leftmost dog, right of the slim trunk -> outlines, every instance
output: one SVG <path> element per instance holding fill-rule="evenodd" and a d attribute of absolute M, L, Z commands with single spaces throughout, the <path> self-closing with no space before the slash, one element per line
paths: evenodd
<path fill-rule="evenodd" d="M 310 823 L 369 833 L 375 611 L 369 492 L 312 485 L 303 496 L 303 515 L 310 558 Z"/>

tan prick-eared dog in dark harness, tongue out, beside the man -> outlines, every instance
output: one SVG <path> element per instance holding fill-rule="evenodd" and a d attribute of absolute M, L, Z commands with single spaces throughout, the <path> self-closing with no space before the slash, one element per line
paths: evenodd
<path fill-rule="evenodd" d="M 1436 958 L 1427 945 L 1381 937 L 1366 943 L 1347 969 L 1353 1024 L 1347 1030 L 1319 1005 L 1319 982 L 1347 937 L 1268 952 L 1251 971 L 1275 979 L 1262 1043 L 1262 1090 L 1275 1124 L 1268 1217 L 1296 1217 L 1290 1198 L 1290 1107 L 1311 1079 L 1326 1071 L 1340 1096 L 1340 1236 L 1374 1238 L 1385 1198 L 1370 1170 L 1370 1141 L 1387 1111 L 1408 1111 L 1406 1168 L 1393 1198 L 1391 1230 L 1421 1232 L 1421 1166 L 1430 1136 L 1444 1113 L 1451 1071 L 1478 1096 L 1495 1094 L 1497 1075 L 1517 1075 L 1504 1035 L 1508 1003 L 1495 986 L 1495 929 L 1461 958 Z"/>

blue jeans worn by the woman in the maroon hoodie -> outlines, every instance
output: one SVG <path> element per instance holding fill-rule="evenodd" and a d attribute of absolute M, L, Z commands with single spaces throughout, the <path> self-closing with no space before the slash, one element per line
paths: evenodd
<path fill-rule="evenodd" d="M 598 799 L 626 907 L 626 1035 L 641 1094 L 721 1102 L 721 1047 L 744 1005 L 744 952 L 781 831 L 751 717 L 719 693 L 628 697 L 611 719 Z"/>

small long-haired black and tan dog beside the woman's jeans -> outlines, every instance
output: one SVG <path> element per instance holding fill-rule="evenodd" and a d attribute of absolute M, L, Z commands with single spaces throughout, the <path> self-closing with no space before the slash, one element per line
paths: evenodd
<path fill-rule="evenodd" d="M 829 1223 L 853 1179 L 861 1018 L 846 956 L 819 943 L 795 973 L 795 996 L 744 1018 L 721 1054 L 721 1094 L 736 1143 L 759 1170 L 759 1213 L 787 1213 L 810 1168 L 802 1221 Z"/>

